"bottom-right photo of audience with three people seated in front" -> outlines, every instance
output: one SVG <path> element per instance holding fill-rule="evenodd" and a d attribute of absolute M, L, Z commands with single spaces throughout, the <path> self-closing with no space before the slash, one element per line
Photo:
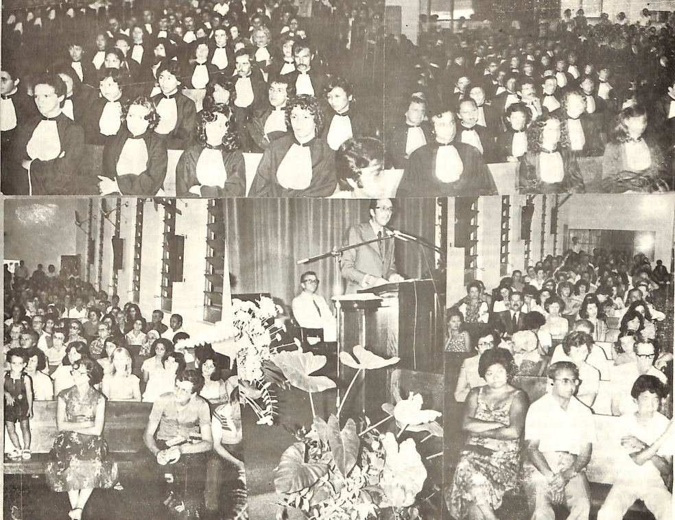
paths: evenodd
<path fill-rule="evenodd" d="M 670 517 L 674 204 L 449 201 L 445 518 Z"/>

